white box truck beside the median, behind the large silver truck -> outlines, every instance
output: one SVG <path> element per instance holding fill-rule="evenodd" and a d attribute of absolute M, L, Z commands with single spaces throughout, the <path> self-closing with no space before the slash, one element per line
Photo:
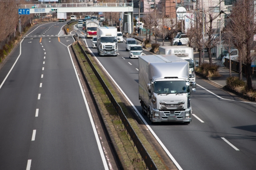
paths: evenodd
<path fill-rule="evenodd" d="M 97 27 L 97 49 L 98 55 L 117 56 L 117 28 Z"/>

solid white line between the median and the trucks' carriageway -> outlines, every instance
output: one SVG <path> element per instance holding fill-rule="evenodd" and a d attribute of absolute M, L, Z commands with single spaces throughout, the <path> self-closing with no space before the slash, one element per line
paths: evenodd
<path fill-rule="evenodd" d="M 124 40 L 125 41 L 125 40 Z M 87 42 L 85 41 L 86 46 Z M 89 51 L 92 53 L 91 49 L 89 48 Z M 94 53 L 92 53 L 92 55 L 95 57 Z M 128 102 L 131 104 L 131 106 L 134 108 L 134 110 L 137 112 L 137 114 L 140 116 L 140 118 L 142 119 L 142 121 L 144 122 L 144 124 L 148 127 L 148 129 L 150 130 L 150 132 L 152 133 L 152 135 L 156 138 L 156 140 L 158 141 L 158 143 L 161 145 L 161 147 L 164 149 L 164 151 L 166 152 L 166 154 L 170 157 L 170 159 L 172 160 L 172 162 L 176 165 L 176 167 L 178 168 L 178 170 L 182 170 L 181 166 L 178 164 L 178 162 L 174 159 L 174 157 L 172 156 L 172 154 L 169 152 L 169 150 L 164 146 L 164 144 L 162 143 L 162 141 L 158 138 L 158 136 L 156 135 L 156 133 L 151 129 L 150 125 L 148 125 L 148 123 L 146 122 L 146 120 L 144 119 L 144 117 L 142 117 L 142 115 L 140 114 L 140 112 L 138 111 L 138 109 L 134 106 L 134 104 L 132 104 L 132 102 L 130 101 L 130 99 L 126 96 L 126 94 L 124 93 L 124 91 L 120 88 L 120 86 L 116 83 L 116 81 L 114 80 L 114 78 L 112 78 L 112 76 L 108 73 L 108 71 L 106 70 L 106 68 L 100 63 L 100 61 L 97 59 L 97 57 L 95 57 L 95 59 L 98 61 L 98 63 L 100 64 L 100 66 L 106 71 L 106 73 L 108 74 L 108 76 L 111 78 L 111 80 L 114 82 L 114 84 L 116 84 L 116 86 L 118 87 L 118 89 L 122 92 L 122 94 L 124 95 L 124 97 L 128 100 Z"/>

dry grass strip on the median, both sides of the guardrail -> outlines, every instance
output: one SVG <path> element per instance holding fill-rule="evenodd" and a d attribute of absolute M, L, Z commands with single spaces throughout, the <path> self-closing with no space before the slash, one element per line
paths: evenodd
<path fill-rule="evenodd" d="M 118 146 L 118 149 L 120 150 L 120 153 L 122 154 L 122 158 L 126 164 L 126 167 L 128 169 L 146 169 L 146 165 L 143 161 L 141 161 L 141 156 L 137 152 L 136 147 L 134 147 L 133 142 L 130 140 L 130 136 L 127 135 L 127 132 L 124 131 L 124 125 L 122 125 L 122 122 L 117 115 L 116 111 L 112 107 L 112 104 L 108 100 L 108 97 L 106 96 L 104 90 L 101 88 L 100 83 L 98 82 L 96 76 L 94 76 L 92 70 L 90 69 L 89 64 L 86 62 L 86 59 L 82 52 L 80 51 L 80 48 L 78 45 L 72 45 L 74 47 L 75 53 L 78 56 L 78 60 L 81 63 L 82 70 L 85 74 L 85 76 L 88 78 L 88 83 L 92 86 L 92 91 L 94 91 L 96 98 L 100 104 L 100 107 L 102 109 L 102 112 L 104 113 L 104 116 L 106 120 L 108 121 L 108 125 L 112 131 L 112 135 L 115 139 L 115 142 Z M 84 48 L 84 47 L 83 47 Z M 86 49 L 84 48 L 86 51 Z M 132 118 L 128 110 L 126 109 L 126 106 L 122 103 L 112 86 L 109 84 L 108 80 L 104 77 L 101 70 L 98 68 L 98 66 L 94 63 L 94 60 L 86 51 L 88 57 L 94 64 L 96 70 L 99 72 L 100 76 L 102 76 L 104 82 L 110 89 L 111 93 L 113 94 L 114 98 L 118 102 L 118 104 L 122 107 L 122 110 L 124 111 L 124 114 L 126 115 L 128 121 L 132 125 L 134 131 L 137 133 L 140 141 L 143 143 L 144 147 L 154 160 L 156 166 L 159 170 L 166 169 L 165 166 L 162 164 L 158 156 L 156 155 L 156 152 L 152 149 L 150 143 L 146 140 L 142 132 L 140 131 L 136 121 Z"/>

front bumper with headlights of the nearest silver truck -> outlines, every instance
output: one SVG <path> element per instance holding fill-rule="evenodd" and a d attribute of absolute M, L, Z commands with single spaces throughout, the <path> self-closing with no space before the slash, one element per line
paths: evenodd
<path fill-rule="evenodd" d="M 158 113 L 158 116 L 156 116 Z M 186 115 L 187 113 L 187 115 Z M 188 115 L 189 113 L 189 115 Z M 182 111 L 159 111 L 157 109 L 152 109 L 152 122 L 190 122 L 192 110 L 186 109 Z"/>

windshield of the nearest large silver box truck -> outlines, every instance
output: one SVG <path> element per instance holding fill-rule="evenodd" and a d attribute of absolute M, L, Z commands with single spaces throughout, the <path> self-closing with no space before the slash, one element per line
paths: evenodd
<path fill-rule="evenodd" d="M 170 93 L 188 93 L 189 86 L 186 81 L 157 81 L 154 82 L 154 92 L 156 94 L 170 94 Z"/>

